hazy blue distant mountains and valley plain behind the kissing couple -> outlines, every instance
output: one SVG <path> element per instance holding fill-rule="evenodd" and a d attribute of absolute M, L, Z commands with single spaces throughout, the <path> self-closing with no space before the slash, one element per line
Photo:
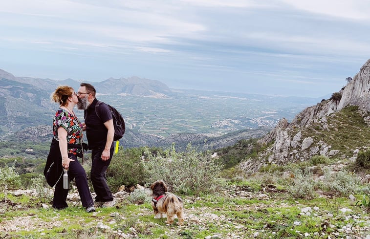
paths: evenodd
<path fill-rule="evenodd" d="M 148 107 L 148 102 L 154 104 L 152 107 L 158 107 L 158 104 L 161 104 L 162 107 L 165 106 L 163 108 L 164 111 L 161 111 L 161 113 L 168 113 L 169 117 L 173 118 L 172 121 L 170 119 L 164 119 L 168 122 L 159 121 L 158 124 L 165 126 L 154 126 L 154 129 L 160 127 L 169 128 L 168 131 L 170 131 L 170 135 L 163 137 L 156 133 L 142 132 L 142 129 L 146 124 L 145 122 L 148 121 L 147 116 L 145 116 L 144 119 L 141 119 L 143 127 L 138 126 L 138 123 L 135 122 L 137 119 L 130 118 L 131 115 L 128 113 L 129 117 L 126 118 L 128 129 L 122 139 L 122 143 L 125 147 L 167 147 L 173 142 L 175 142 L 176 148 L 180 149 L 185 148 L 189 142 L 197 145 L 200 149 L 230 146 L 241 139 L 248 139 L 250 137 L 258 138 L 263 136 L 270 130 L 271 126 L 277 123 L 281 116 L 285 115 L 285 117 L 293 117 L 295 112 L 299 112 L 300 109 L 304 109 L 305 106 L 317 102 L 318 100 L 305 97 L 280 97 L 252 94 L 247 96 L 238 94 L 230 96 L 222 92 L 201 95 L 201 93 L 196 92 L 186 96 L 188 97 L 188 101 L 186 102 L 190 102 L 186 105 L 187 103 L 184 101 L 184 94 L 182 91 L 170 89 L 159 81 L 133 76 L 130 78 L 119 79 L 109 78 L 102 82 L 87 83 L 94 85 L 98 91 L 99 97 L 104 97 L 105 95 L 135 96 L 136 98 L 132 98 L 133 101 L 123 102 L 125 106 L 132 105 L 130 107 L 131 111 L 136 110 L 135 107 L 137 106 L 135 106 L 135 104 L 137 102 L 135 101 L 138 99 L 152 99 L 152 101 L 144 101 L 144 105 L 141 105 L 140 108 Z M 34 77 L 16 77 L 13 74 L 0 69 L 0 109 L 1 112 L 3 112 L 0 115 L 0 137 L 2 137 L 2 140 L 48 142 L 52 134 L 50 127 L 51 118 L 54 110 L 57 108 L 57 105 L 50 101 L 51 92 L 53 92 L 58 85 L 69 85 L 77 89 L 79 84 L 79 81 L 73 79 L 55 81 L 52 79 Z M 173 99 L 174 103 L 171 104 L 174 105 L 166 105 L 169 103 L 161 100 L 170 98 Z M 188 119 L 184 117 L 194 118 L 196 116 L 200 117 L 200 119 L 202 117 L 209 117 L 207 114 L 202 113 L 202 111 L 213 109 L 209 105 L 215 104 L 211 103 L 213 102 L 213 98 L 218 98 L 220 103 L 227 102 L 224 106 L 213 106 L 214 109 L 221 111 L 221 114 L 224 113 L 225 116 L 220 115 L 218 112 L 214 112 L 214 117 L 217 121 L 212 122 L 212 125 L 210 124 L 208 128 L 203 127 L 203 131 L 195 130 L 199 132 L 193 132 L 194 126 L 192 124 L 194 123 L 187 123 L 185 125 L 183 121 L 185 122 Z M 201 100 L 204 99 L 209 99 L 209 102 L 205 102 L 201 105 Z M 229 102 L 226 101 L 226 99 L 235 99 L 235 101 Z M 106 102 L 109 102 L 108 100 L 109 98 L 107 98 Z M 154 100 L 156 101 L 154 102 Z M 176 105 L 177 103 L 181 103 L 182 105 Z M 115 103 L 115 106 L 119 106 L 118 104 L 120 104 L 119 100 Z M 187 113 L 187 107 L 189 107 L 191 111 L 195 107 L 198 107 L 200 115 L 197 116 L 199 112 L 190 111 Z M 248 107 L 251 109 L 245 109 Z M 264 108 L 266 108 L 266 110 L 263 110 Z M 171 113 L 172 111 L 165 112 L 166 110 L 172 109 L 176 109 L 177 111 L 174 111 L 173 113 Z M 238 111 L 240 110 L 247 110 L 247 117 L 237 116 Z M 143 112 L 146 114 L 149 113 L 148 110 L 144 110 Z M 180 112 L 180 114 L 185 113 L 185 115 L 178 115 L 178 112 Z M 139 117 L 141 117 L 140 114 L 143 113 L 140 112 L 138 114 Z M 236 119 L 233 118 L 235 116 L 237 116 Z M 82 112 L 78 112 L 78 117 L 83 117 Z M 150 117 L 154 119 L 156 115 Z M 225 118 L 218 119 L 219 117 Z M 243 123 L 242 121 L 245 122 Z M 199 124 L 200 121 L 196 120 L 194 122 L 195 124 Z M 171 133 L 171 124 L 185 126 L 185 130 L 173 130 Z M 187 132 L 186 129 L 191 129 L 192 132 Z M 222 129 L 224 130 L 222 131 Z M 217 133 L 209 133 L 207 130 L 212 130 L 212 132 L 216 130 Z"/>

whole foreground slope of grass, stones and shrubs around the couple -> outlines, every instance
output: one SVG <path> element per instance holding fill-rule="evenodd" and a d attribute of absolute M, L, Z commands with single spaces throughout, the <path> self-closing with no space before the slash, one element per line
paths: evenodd
<path fill-rule="evenodd" d="M 370 154 L 365 157 L 369 162 Z M 45 188 L 43 177 L 35 178 L 25 190 L 14 167 L 6 166 L 0 171 L 0 237 L 366 238 L 370 205 L 363 203 L 363 197 L 368 199 L 369 184 L 340 165 L 358 169 L 348 159 L 333 163 L 313 157 L 306 163 L 286 165 L 284 170 L 270 168 L 247 175 L 235 168 L 221 171 L 217 157 L 191 147 L 184 152 L 121 148 L 108 179 L 114 179 L 110 184 L 126 187 L 112 185 L 116 206 L 91 214 L 81 207 L 75 189 L 69 193 L 67 209 L 50 208 L 52 191 Z M 88 164 L 84 167 L 88 171 Z M 183 198 L 184 226 L 153 218 L 151 191 L 146 186 L 159 178 Z M 144 188 L 129 187 L 136 182 Z"/>

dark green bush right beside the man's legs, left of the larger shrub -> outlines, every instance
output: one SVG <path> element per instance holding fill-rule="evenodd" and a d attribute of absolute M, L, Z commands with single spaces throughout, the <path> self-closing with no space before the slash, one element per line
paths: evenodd
<path fill-rule="evenodd" d="M 113 155 L 107 170 L 107 183 L 112 192 L 117 192 L 122 185 L 143 185 L 145 179 L 141 155 L 144 148 L 121 150 Z"/>

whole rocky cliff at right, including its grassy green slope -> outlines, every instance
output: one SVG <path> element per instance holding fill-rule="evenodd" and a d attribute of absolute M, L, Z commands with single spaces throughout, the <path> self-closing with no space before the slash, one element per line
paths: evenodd
<path fill-rule="evenodd" d="M 269 163 L 305 161 L 313 155 L 349 157 L 370 147 L 370 59 L 339 92 L 297 114 L 282 119 L 260 140 L 267 148 L 259 160 L 248 158 L 240 168 L 252 173 Z"/>

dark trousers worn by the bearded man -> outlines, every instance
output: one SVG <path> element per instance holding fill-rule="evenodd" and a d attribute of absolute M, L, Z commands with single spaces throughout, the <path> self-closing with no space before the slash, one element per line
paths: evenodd
<path fill-rule="evenodd" d="M 113 200 L 112 192 L 110 191 L 107 180 L 106 171 L 110 164 L 114 152 L 114 144 L 110 147 L 110 155 L 107 161 L 101 159 L 104 148 L 92 149 L 91 152 L 91 182 L 96 193 L 95 202 L 108 202 Z"/>

